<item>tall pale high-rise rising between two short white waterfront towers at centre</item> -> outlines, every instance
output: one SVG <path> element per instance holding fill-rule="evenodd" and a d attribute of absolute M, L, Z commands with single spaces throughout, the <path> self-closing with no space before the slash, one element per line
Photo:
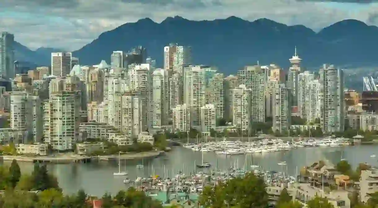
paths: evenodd
<path fill-rule="evenodd" d="M 201 125 L 200 109 L 205 104 L 205 73 L 200 66 L 185 72 L 184 103 L 190 109 L 191 128 Z"/>

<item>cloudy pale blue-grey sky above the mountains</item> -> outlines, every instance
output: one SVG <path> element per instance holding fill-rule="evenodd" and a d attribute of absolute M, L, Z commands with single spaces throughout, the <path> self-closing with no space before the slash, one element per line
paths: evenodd
<path fill-rule="evenodd" d="M 357 2 L 357 3 L 356 3 Z M 378 25 L 378 0 L 0 0 L 0 31 L 31 49 L 77 50 L 104 31 L 149 17 L 268 18 L 319 29 L 343 19 Z"/>

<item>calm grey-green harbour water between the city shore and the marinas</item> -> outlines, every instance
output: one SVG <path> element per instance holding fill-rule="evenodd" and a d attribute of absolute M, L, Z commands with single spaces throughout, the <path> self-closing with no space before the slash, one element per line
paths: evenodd
<path fill-rule="evenodd" d="M 204 162 L 209 162 L 212 169 L 228 169 L 232 166 L 239 166 L 250 169 L 250 165 L 259 165 L 265 170 L 287 171 L 295 176 L 296 171 L 305 165 L 315 161 L 328 160 L 333 164 L 341 159 L 348 160 L 352 166 L 358 163 L 369 163 L 378 166 L 377 158 L 370 157 L 378 154 L 378 146 L 340 146 L 340 147 L 301 147 L 290 151 L 263 152 L 257 154 L 242 155 L 216 155 L 214 152 L 191 151 L 184 147 L 173 147 L 166 155 L 149 160 L 128 160 L 121 161 L 121 171 L 128 172 L 128 178 L 135 180 L 136 177 L 148 177 L 149 175 L 160 175 L 161 177 L 172 177 L 178 171 L 191 174 L 195 171 L 195 163 L 201 164 L 202 154 Z M 277 163 L 286 161 L 287 166 L 280 166 Z M 4 162 L 10 164 L 10 162 Z M 144 168 L 137 168 L 137 165 L 144 165 Z M 33 163 L 19 162 L 24 173 L 33 171 Z M 123 183 L 125 176 L 113 176 L 118 172 L 118 162 L 94 162 L 87 164 L 48 164 L 48 170 L 53 173 L 59 182 L 59 186 L 65 194 L 77 192 L 84 189 L 90 195 L 102 196 L 105 192 L 115 194 L 121 189 L 126 189 Z"/>

